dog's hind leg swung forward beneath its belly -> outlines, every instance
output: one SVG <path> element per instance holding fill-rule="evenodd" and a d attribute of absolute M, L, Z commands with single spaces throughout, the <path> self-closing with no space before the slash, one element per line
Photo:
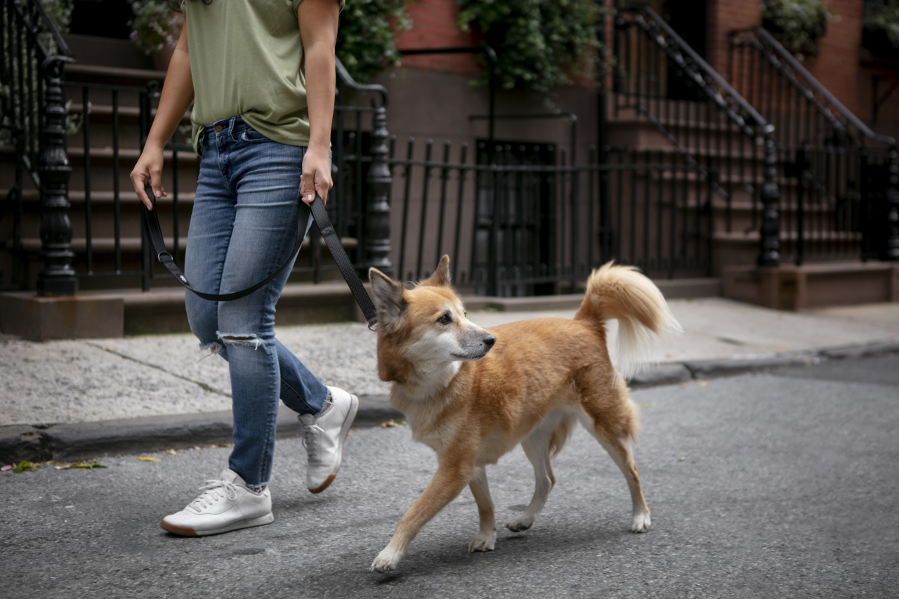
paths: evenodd
<path fill-rule="evenodd" d="M 521 449 L 524 450 L 524 454 L 528 456 L 530 464 L 534 467 L 534 496 L 523 514 L 506 523 L 506 528 L 510 531 L 527 531 L 534 525 L 543 505 L 547 503 L 549 491 L 556 484 L 550 453 L 553 451 L 554 445 L 556 451 L 561 449 L 567 436 L 568 425 L 565 419 L 558 416 L 547 416 L 547 419 L 535 427 L 521 442 Z"/>

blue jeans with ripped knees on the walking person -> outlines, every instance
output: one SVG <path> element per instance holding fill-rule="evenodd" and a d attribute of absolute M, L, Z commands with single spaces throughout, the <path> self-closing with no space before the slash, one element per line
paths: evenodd
<path fill-rule="evenodd" d="M 199 291 L 240 291 L 274 273 L 293 250 L 306 148 L 271 141 L 237 117 L 209 125 L 203 135 L 184 274 Z M 311 224 L 310 216 L 307 230 Z M 200 347 L 228 362 L 234 413 L 228 467 L 250 487 L 271 481 L 278 399 L 299 414 L 317 414 L 328 395 L 275 339 L 275 302 L 289 273 L 290 266 L 234 301 L 186 292 Z"/>

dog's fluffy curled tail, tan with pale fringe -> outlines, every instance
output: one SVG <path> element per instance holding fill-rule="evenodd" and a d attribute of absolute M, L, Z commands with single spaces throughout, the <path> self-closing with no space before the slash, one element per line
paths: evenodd
<path fill-rule="evenodd" d="M 619 321 L 618 370 L 625 379 L 640 369 L 649 355 L 652 335 L 681 333 L 683 329 L 668 308 L 662 291 L 633 266 L 606 263 L 587 280 L 587 295 L 575 320 L 604 325 Z"/>

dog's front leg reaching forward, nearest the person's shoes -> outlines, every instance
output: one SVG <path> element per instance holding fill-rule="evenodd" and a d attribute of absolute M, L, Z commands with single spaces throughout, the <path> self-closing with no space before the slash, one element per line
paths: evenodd
<path fill-rule="evenodd" d="M 468 483 L 474 465 L 464 467 L 455 462 L 453 464 L 441 464 L 431 480 L 431 484 L 424 489 L 424 493 L 409 511 L 403 515 L 396 527 L 393 539 L 387 544 L 378 557 L 371 563 L 372 572 L 387 572 L 396 568 L 396 564 L 403 559 L 409 543 L 418 534 L 422 526 L 434 517 L 434 514 L 443 509 L 450 501 L 456 498 Z"/>

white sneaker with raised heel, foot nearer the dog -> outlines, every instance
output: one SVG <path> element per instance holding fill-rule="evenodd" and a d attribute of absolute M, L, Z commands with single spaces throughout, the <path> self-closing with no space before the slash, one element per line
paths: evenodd
<path fill-rule="evenodd" d="M 303 446 L 307 452 L 306 486 L 321 493 L 337 476 L 343 460 L 343 442 L 359 410 L 359 398 L 343 389 L 328 387 L 328 407 L 321 414 L 300 414 Z"/>

